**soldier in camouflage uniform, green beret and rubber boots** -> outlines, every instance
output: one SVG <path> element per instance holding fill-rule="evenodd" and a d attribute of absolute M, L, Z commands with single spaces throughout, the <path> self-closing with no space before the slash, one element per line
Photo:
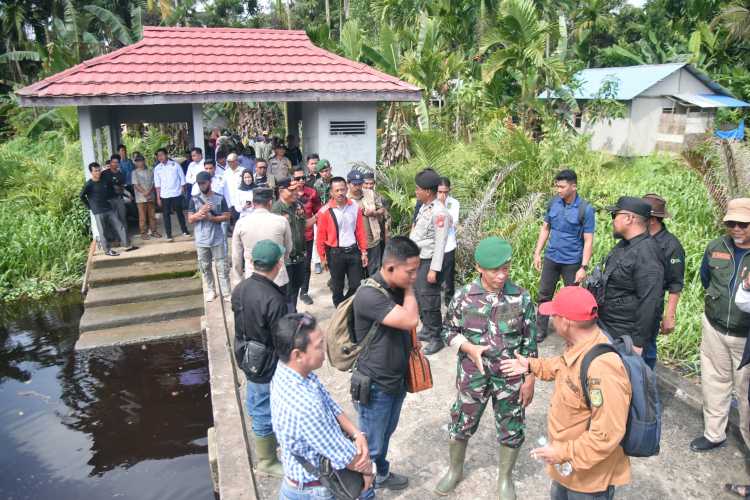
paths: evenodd
<path fill-rule="evenodd" d="M 450 469 L 435 489 L 447 495 L 463 478 L 466 445 L 492 399 L 500 442 L 498 494 L 515 499 L 513 466 L 524 441 L 524 407 L 534 397 L 534 375 L 506 377 L 501 359 L 536 357 L 536 314 L 529 292 L 509 279 L 510 244 L 497 237 L 474 252 L 479 277 L 455 295 L 443 326 L 445 342 L 458 347 L 458 397 L 451 407 Z"/>

